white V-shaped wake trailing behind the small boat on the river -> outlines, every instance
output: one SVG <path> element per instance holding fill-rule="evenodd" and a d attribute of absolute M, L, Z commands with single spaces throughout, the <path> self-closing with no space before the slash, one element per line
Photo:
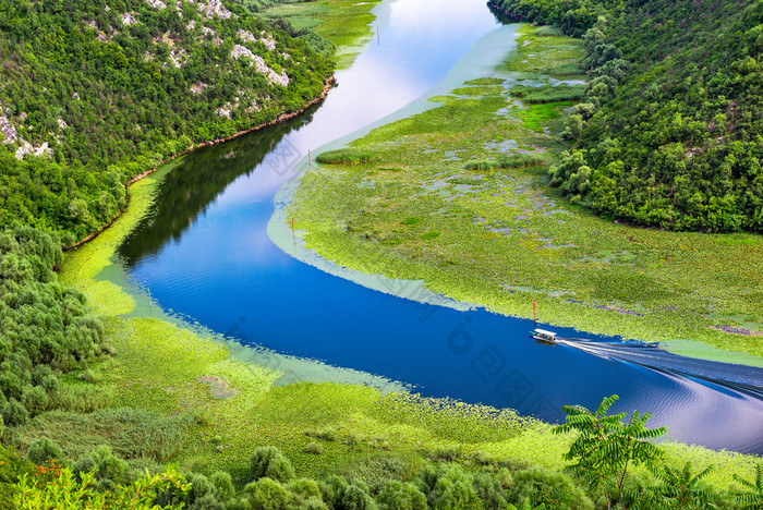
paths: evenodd
<path fill-rule="evenodd" d="M 763 400 L 763 368 L 760 367 L 686 357 L 667 352 L 657 343 L 614 343 L 578 338 L 557 338 L 556 343 Z"/>

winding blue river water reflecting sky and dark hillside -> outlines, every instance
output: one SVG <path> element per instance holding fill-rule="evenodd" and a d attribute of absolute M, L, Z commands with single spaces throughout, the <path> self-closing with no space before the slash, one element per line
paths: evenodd
<path fill-rule="evenodd" d="M 651 411 L 651 425 L 668 425 L 671 438 L 763 453 L 763 402 L 754 392 L 630 363 L 627 354 L 538 344 L 528 338 L 531 320 L 377 292 L 305 265 L 270 241 L 274 196 L 307 149 L 405 107 L 470 50 L 505 58 L 514 48 L 517 25 L 499 23 L 481 0 L 443 0 L 437 9 L 397 0 L 376 14 L 377 36 L 337 74 L 324 104 L 192 154 L 164 179 L 152 214 L 120 248 L 130 278 L 164 309 L 242 343 L 402 381 L 424 396 L 559 422 L 564 404 L 596 406 L 617 393 L 616 411 Z M 464 80 L 495 65 L 475 68 Z"/>

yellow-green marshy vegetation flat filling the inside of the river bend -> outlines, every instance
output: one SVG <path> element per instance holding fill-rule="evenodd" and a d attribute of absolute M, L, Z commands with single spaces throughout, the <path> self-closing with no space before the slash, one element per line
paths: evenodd
<path fill-rule="evenodd" d="M 763 355 L 763 239 L 638 229 L 562 199 L 546 165 L 565 148 L 559 118 L 582 87 L 582 48 L 529 26 L 518 48 L 511 73 L 353 142 L 370 162 L 340 154 L 307 173 L 288 212 L 308 245 L 502 314 L 531 317 L 535 299 L 554 325 L 704 342 L 669 342 L 704 357 L 724 354 L 703 344 Z"/>

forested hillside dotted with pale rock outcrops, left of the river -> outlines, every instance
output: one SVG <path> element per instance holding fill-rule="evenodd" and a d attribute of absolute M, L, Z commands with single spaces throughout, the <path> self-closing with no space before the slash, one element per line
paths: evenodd
<path fill-rule="evenodd" d="M 0 0 L 0 228 L 72 244 L 130 177 L 317 97 L 330 63 L 247 7 Z"/>

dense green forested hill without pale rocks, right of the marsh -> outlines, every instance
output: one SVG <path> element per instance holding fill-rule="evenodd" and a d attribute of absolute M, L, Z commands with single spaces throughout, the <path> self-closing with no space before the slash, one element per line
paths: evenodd
<path fill-rule="evenodd" d="M 652 227 L 763 231 L 763 2 L 496 0 L 583 36 L 588 101 L 552 183 Z"/>

